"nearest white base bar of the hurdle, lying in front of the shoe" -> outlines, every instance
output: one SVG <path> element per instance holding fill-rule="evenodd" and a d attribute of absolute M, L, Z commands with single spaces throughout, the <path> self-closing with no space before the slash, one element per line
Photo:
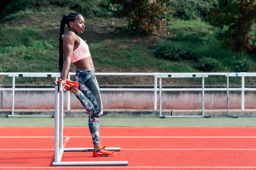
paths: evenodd
<path fill-rule="evenodd" d="M 65 161 L 52 162 L 53 166 L 127 166 L 128 161 Z"/>

